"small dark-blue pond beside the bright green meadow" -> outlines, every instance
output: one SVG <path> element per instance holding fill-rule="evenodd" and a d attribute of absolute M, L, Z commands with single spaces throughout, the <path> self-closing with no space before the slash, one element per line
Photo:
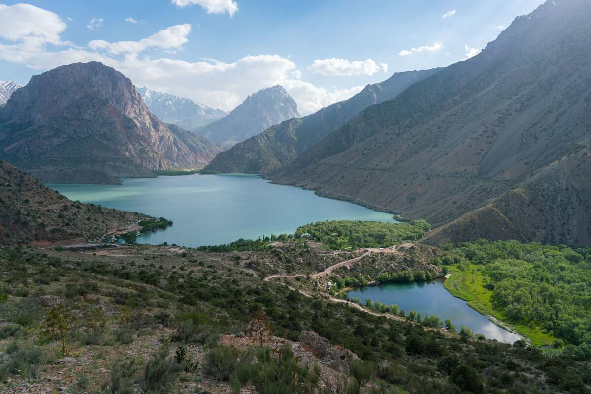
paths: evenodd
<path fill-rule="evenodd" d="M 502 329 L 470 308 L 466 301 L 454 297 L 443 287 L 443 280 L 431 282 L 380 284 L 358 288 L 348 292 L 349 298 L 359 297 L 365 304 L 366 298 L 380 301 L 382 304 L 398 304 L 408 316 L 410 310 L 426 314 L 435 314 L 441 318 L 452 320 L 459 331 L 461 326 L 468 326 L 474 333 L 484 334 L 487 339 L 499 342 L 514 343 L 522 339 L 518 334 Z"/>

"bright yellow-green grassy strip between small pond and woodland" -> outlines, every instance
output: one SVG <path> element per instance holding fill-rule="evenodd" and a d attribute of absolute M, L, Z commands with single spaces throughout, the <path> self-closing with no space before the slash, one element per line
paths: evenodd
<path fill-rule="evenodd" d="M 550 345 L 554 337 L 544 334 L 542 328 L 530 324 L 514 322 L 505 316 L 503 311 L 496 310 L 492 306 L 492 290 L 484 287 L 486 284 L 485 276 L 482 274 L 482 266 L 471 264 L 465 271 L 457 269 L 456 265 L 450 265 L 452 273 L 443 286 L 454 297 L 467 301 L 467 305 L 478 313 L 486 316 L 497 326 L 518 333 L 537 346 Z"/>

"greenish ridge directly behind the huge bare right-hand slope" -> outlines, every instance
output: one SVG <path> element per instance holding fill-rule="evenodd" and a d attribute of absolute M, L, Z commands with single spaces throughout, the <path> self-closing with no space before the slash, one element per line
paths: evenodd
<path fill-rule="evenodd" d="M 290 119 L 220 153 L 207 169 L 222 172 L 269 173 L 287 165 L 314 143 L 333 132 L 359 111 L 392 100 L 413 83 L 437 73 L 439 68 L 396 73 L 382 83 L 368 85 L 349 100 L 316 113 Z"/>

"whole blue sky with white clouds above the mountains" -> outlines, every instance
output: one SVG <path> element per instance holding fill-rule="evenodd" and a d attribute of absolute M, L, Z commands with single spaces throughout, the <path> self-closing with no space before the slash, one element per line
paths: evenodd
<path fill-rule="evenodd" d="M 2 1 L 2 0 L 0 0 Z M 541 0 L 0 2 L 0 80 L 100 61 L 225 111 L 281 84 L 310 114 L 401 71 L 478 54 Z"/>

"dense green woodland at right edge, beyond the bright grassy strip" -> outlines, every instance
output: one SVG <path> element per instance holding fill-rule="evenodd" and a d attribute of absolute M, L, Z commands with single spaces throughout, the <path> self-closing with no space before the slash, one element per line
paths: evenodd
<path fill-rule="evenodd" d="M 483 265 L 494 307 L 540 324 L 591 359 L 591 248 L 479 239 L 450 252 Z"/>

